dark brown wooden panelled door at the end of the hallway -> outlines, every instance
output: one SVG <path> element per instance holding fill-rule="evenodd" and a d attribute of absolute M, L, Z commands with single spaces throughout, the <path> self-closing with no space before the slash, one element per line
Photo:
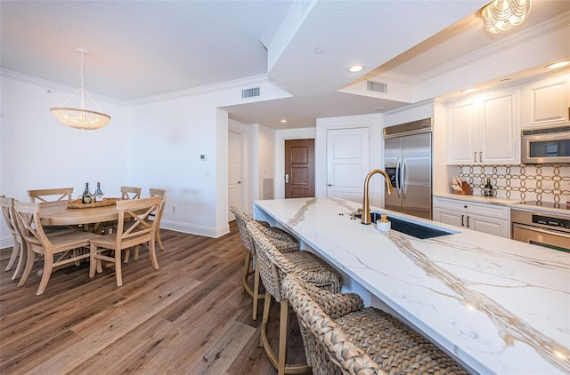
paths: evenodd
<path fill-rule="evenodd" d="M 285 198 L 314 196 L 314 140 L 285 141 Z"/>

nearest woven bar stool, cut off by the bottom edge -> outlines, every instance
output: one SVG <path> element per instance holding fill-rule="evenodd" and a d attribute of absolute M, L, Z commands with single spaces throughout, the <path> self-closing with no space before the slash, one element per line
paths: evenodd
<path fill-rule="evenodd" d="M 284 278 L 281 291 L 305 328 L 315 374 L 468 374 L 394 316 L 365 308 L 357 294 L 323 291 L 295 275 Z"/>

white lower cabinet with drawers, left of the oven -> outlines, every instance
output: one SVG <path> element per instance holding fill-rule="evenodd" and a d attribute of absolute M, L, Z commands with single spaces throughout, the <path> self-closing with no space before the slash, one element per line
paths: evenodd
<path fill-rule="evenodd" d="M 509 207 L 451 198 L 434 198 L 434 220 L 510 238 Z"/>

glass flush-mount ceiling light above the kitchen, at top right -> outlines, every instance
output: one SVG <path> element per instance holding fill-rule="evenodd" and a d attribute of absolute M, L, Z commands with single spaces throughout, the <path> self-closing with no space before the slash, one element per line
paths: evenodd
<path fill-rule="evenodd" d="M 491 35 L 521 25 L 531 12 L 532 0 L 494 0 L 481 10 L 485 28 Z"/>

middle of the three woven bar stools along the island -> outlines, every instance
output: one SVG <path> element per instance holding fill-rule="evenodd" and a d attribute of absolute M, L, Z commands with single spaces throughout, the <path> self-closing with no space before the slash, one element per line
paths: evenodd
<path fill-rule="evenodd" d="M 340 292 L 342 277 L 338 272 L 322 259 L 309 251 L 294 251 L 282 253 L 278 251 L 271 238 L 265 236 L 261 230 L 262 225 L 250 221 L 247 225 L 257 254 L 257 265 L 261 280 L 265 286 L 264 313 L 261 323 L 260 345 L 264 347 L 265 354 L 277 368 L 278 374 L 299 373 L 310 369 L 310 358 L 306 356 L 307 363 L 288 364 L 287 330 L 289 322 L 289 305 L 281 297 L 281 280 L 285 275 L 297 275 L 306 283 L 322 288 L 332 293 Z M 269 310 L 271 299 L 280 303 L 279 316 L 279 351 L 275 355 L 267 339 L 267 324 L 269 323 Z M 299 326 L 300 327 L 300 326 Z M 305 342 L 305 331 L 301 328 L 301 335 Z"/>

